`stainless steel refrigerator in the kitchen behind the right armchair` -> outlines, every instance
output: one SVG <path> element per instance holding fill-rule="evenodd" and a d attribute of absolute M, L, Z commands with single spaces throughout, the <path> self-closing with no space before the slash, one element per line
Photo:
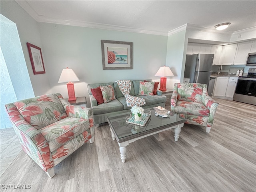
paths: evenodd
<path fill-rule="evenodd" d="M 184 78 L 190 83 L 203 83 L 209 86 L 214 54 L 194 54 L 186 56 Z"/>

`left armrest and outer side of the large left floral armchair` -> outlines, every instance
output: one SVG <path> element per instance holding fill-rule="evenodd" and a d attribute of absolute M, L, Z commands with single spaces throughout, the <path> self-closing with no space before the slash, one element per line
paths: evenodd
<path fill-rule="evenodd" d="M 54 167 L 48 142 L 42 133 L 24 120 L 13 103 L 6 104 L 5 107 L 24 152 L 45 172 Z"/>

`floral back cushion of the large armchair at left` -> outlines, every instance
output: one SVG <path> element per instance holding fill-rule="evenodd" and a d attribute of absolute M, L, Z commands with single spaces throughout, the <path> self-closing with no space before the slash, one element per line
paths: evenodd
<path fill-rule="evenodd" d="M 26 122 L 38 130 L 67 117 L 56 94 L 20 100 L 14 102 L 14 105 Z"/>

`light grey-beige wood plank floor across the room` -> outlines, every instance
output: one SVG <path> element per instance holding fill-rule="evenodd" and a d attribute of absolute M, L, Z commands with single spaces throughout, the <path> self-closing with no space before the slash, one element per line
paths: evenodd
<path fill-rule="evenodd" d="M 173 130 L 137 140 L 127 147 L 126 163 L 107 123 L 96 128 L 93 144 L 54 168 L 52 179 L 20 151 L 0 177 L 0 191 L 255 192 L 256 106 L 216 101 L 210 134 L 185 124 L 178 142 Z M 7 184 L 31 189 L 3 189 Z"/>

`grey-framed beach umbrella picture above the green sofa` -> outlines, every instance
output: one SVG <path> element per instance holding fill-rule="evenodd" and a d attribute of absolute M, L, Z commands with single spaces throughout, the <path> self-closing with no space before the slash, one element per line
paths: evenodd
<path fill-rule="evenodd" d="M 132 42 L 101 40 L 103 70 L 132 69 Z"/>

